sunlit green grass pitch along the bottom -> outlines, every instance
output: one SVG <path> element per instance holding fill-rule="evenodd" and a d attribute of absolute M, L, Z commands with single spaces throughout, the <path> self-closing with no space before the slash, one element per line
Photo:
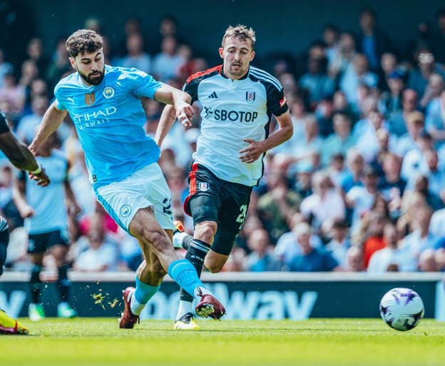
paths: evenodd
<path fill-rule="evenodd" d="M 23 322 L 32 335 L 0 336 L 1 366 L 445 365 L 445 323 L 434 320 L 409 332 L 377 319 L 206 320 L 199 332 L 156 320 L 134 330 L 111 318 Z"/>

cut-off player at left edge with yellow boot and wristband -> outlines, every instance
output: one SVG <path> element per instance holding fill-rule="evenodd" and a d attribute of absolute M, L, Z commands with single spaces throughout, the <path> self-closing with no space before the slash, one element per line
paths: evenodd
<path fill-rule="evenodd" d="M 0 150 L 3 151 L 6 158 L 9 158 L 9 161 L 16 168 L 28 171 L 30 177 L 37 181 L 37 184 L 42 187 L 46 187 L 49 184 L 50 181 L 45 169 L 36 161 L 31 151 L 23 143 L 17 141 L 15 136 L 9 131 L 8 124 L 2 113 L 0 113 Z M 6 262 L 8 243 L 8 223 L 0 216 L 0 275 L 3 273 L 3 266 Z M 29 333 L 29 330 L 17 320 L 6 315 L 3 310 L 0 310 L 0 333 L 26 335 Z"/>

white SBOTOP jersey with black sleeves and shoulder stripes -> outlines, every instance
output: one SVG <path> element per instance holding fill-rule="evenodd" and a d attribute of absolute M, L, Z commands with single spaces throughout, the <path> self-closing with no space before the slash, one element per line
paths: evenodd
<path fill-rule="evenodd" d="M 245 77 L 231 80 L 220 65 L 190 76 L 183 91 L 203 107 L 194 161 L 224 181 L 257 185 L 265 154 L 248 164 L 240 161 L 240 150 L 249 146 L 245 138 L 265 140 L 272 114 L 287 111 L 280 81 L 252 66 Z"/>

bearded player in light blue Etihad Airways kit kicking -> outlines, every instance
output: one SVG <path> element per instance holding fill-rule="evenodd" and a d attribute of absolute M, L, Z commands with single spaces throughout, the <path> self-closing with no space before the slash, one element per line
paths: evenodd
<path fill-rule="evenodd" d="M 143 128 L 141 97 L 173 104 L 185 123 L 193 114 L 190 96 L 136 68 L 105 65 L 102 37 L 94 31 L 76 31 L 66 48 L 76 73 L 56 85 L 56 101 L 30 149 L 39 151 L 70 113 L 98 201 L 138 239 L 145 260 L 136 273 L 136 288 L 123 291 L 119 326 L 134 327 L 166 273 L 199 301 L 198 315 L 220 319 L 223 305 L 205 288 L 190 261 L 175 253 L 170 190 L 157 163 L 160 149 Z"/>

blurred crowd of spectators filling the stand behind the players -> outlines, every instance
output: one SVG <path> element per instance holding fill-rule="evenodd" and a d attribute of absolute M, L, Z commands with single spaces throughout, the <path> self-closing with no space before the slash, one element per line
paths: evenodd
<path fill-rule="evenodd" d="M 181 88 L 190 74 L 213 65 L 193 56 L 177 25 L 165 16 L 158 41 L 147 44 L 140 21 L 128 19 L 116 44 L 104 34 L 106 62 Z M 98 19 L 85 26 L 101 33 Z M 410 48 L 397 49 L 374 11 L 363 9 L 357 32 L 329 24 L 305 54 L 275 57 L 266 68 L 285 88 L 294 135 L 265 156 L 265 176 L 224 270 L 445 269 L 445 9 L 434 26 L 418 28 Z M 53 86 L 73 72 L 65 41 L 48 50 L 38 37 L 30 39 L 19 65 L 0 49 L 0 110 L 24 143 L 32 141 Z M 143 105 L 146 131 L 154 136 L 163 106 L 150 99 Z M 175 219 L 190 233 L 183 201 L 200 127 L 200 106 L 193 107 L 193 126 L 184 131 L 175 123 L 159 161 Z M 277 123 L 271 122 L 273 131 Z M 69 116 L 57 137 L 81 207 L 81 213 L 68 210 L 73 269 L 135 270 L 138 243 L 96 203 Z M 7 265 L 28 270 L 27 233 L 11 193 L 15 175 L 1 160 L 0 210 L 11 228 Z M 55 268 L 51 255 L 45 265 Z"/>

